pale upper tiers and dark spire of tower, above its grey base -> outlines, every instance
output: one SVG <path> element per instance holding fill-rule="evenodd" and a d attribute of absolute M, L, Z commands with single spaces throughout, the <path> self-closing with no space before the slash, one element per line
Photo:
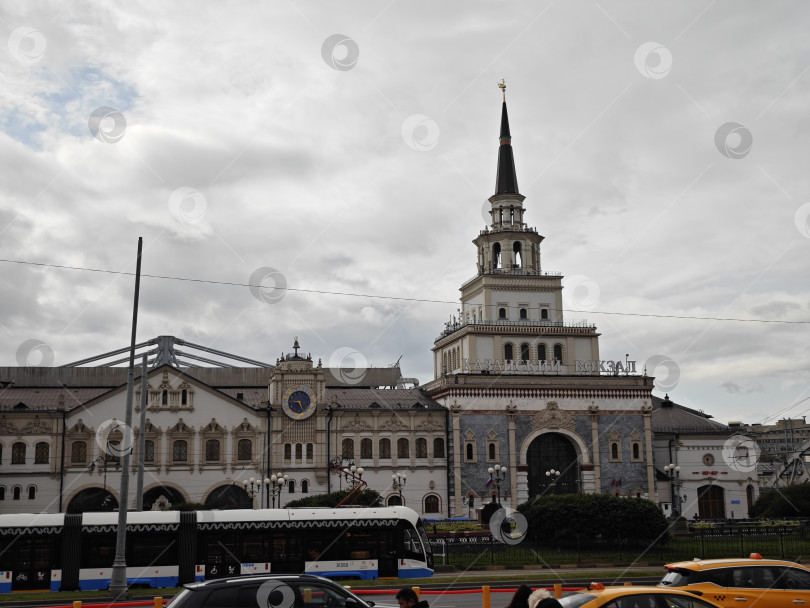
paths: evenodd
<path fill-rule="evenodd" d="M 505 85 L 500 85 L 505 89 Z M 434 377 L 448 373 L 598 374 L 599 334 L 563 319 L 562 276 L 544 272 L 543 236 L 524 221 L 504 93 L 490 222 L 473 239 L 476 275 L 461 286 L 460 317 L 436 340 Z"/>

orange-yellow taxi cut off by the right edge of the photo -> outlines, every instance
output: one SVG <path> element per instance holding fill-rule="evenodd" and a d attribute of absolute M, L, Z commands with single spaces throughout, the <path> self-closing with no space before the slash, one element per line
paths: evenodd
<path fill-rule="evenodd" d="M 660 587 L 684 589 L 720 606 L 810 606 L 810 568 L 752 553 L 748 559 L 696 559 L 667 564 Z"/>

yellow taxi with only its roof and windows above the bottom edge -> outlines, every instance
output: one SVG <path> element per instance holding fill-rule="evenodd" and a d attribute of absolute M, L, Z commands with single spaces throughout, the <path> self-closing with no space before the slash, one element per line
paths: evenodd
<path fill-rule="evenodd" d="M 561 597 L 563 608 L 718 608 L 694 593 L 663 587 L 605 587 L 591 583 L 587 591 Z M 764 607 L 763 607 L 764 608 Z"/>

